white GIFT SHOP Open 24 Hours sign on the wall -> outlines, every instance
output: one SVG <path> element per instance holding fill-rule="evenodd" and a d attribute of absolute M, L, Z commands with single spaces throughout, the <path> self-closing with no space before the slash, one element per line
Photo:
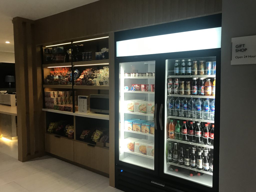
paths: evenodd
<path fill-rule="evenodd" d="M 231 65 L 256 63 L 256 35 L 231 38 Z"/>

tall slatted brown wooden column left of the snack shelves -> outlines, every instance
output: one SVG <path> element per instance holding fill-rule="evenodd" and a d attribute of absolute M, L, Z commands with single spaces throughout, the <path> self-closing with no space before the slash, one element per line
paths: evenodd
<path fill-rule="evenodd" d="M 44 155 L 41 62 L 37 62 L 34 21 L 13 18 L 17 92 L 18 160 Z"/>

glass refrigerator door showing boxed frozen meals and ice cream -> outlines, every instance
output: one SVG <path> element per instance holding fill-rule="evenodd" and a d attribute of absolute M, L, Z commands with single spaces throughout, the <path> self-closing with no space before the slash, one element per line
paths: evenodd
<path fill-rule="evenodd" d="M 154 170 L 155 61 L 119 67 L 119 160 Z"/>

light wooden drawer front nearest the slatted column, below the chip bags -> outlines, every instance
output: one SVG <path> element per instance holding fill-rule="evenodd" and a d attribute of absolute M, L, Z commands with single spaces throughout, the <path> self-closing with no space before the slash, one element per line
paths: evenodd
<path fill-rule="evenodd" d="M 45 133 L 45 151 L 74 161 L 74 141 L 71 139 Z"/>

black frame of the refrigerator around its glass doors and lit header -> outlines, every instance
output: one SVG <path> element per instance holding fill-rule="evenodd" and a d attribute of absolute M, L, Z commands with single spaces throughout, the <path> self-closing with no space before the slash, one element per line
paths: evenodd
<path fill-rule="evenodd" d="M 220 56 L 221 48 L 172 52 L 151 55 L 116 57 L 116 42 L 184 31 L 221 27 L 221 14 L 186 19 L 171 23 L 115 32 L 115 186 L 124 191 L 219 191 L 219 127 L 220 127 Z M 213 186 L 208 187 L 182 178 L 164 174 L 164 130 L 160 130 L 159 108 L 165 106 L 165 61 L 166 59 L 216 57 L 215 95 L 215 142 Z M 155 170 L 119 161 L 119 63 L 156 61 L 155 103 L 157 104 L 157 130 L 155 130 Z M 162 72 L 162 75 L 161 75 Z M 164 119 L 164 113 L 162 119 Z M 163 124 L 163 122 L 162 122 Z M 163 125 L 163 129 L 166 129 Z M 127 182 L 127 180 L 130 181 Z M 133 185 L 132 185 L 133 184 Z"/>

